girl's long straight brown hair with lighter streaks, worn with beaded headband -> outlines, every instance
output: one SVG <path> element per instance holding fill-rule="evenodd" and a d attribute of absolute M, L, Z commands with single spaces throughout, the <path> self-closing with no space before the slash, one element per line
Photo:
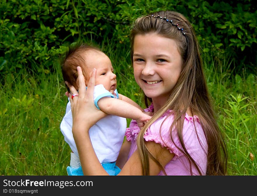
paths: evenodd
<path fill-rule="evenodd" d="M 152 15 L 159 15 L 162 18 L 153 17 Z M 166 22 L 166 20 L 163 19 L 164 17 L 166 17 L 168 20 L 172 20 L 174 24 L 178 24 L 178 27 L 183 28 L 183 31 L 178 30 L 176 26 Z M 185 154 L 190 163 L 191 175 L 193 175 L 192 165 L 197 168 L 199 175 L 203 175 L 205 173 L 201 171 L 201 168 L 199 168 L 196 161 L 190 156 L 183 142 L 182 131 L 187 108 L 190 108 L 192 116 L 197 115 L 199 117 L 206 137 L 208 145 L 208 152 L 206 152 L 206 175 L 226 175 L 227 147 L 216 122 L 216 116 L 210 101 L 209 92 L 207 90 L 203 72 L 202 59 L 199 52 L 199 44 L 192 25 L 189 23 L 187 18 L 185 18 L 185 16 L 175 11 L 158 11 L 148 16 L 139 17 L 133 23 L 131 28 L 130 39 L 132 62 L 135 36 L 138 34 L 144 35 L 150 32 L 155 32 L 163 37 L 174 39 L 178 45 L 178 51 L 182 56 L 183 65 L 178 81 L 175 87 L 172 89 L 167 102 L 159 111 L 154 114 L 154 116 L 150 119 L 150 121 L 148 121 L 148 123 L 138 134 L 137 147 L 143 166 L 143 175 L 150 174 L 149 157 L 153 159 L 162 169 L 164 174 L 166 174 L 164 166 L 162 166 L 159 161 L 148 151 L 143 136 L 150 125 L 159 117 L 161 117 L 167 110 L 173 111 L 170 113 L 174 115 L 174 121 L 171 124 L 170 132 L 171 130 L 178 132 L 179 141 L 182 146 L 182 149 L 180 150 Z M 185 35 L 183 33 L 185 33 Z M 145 95 L 145 104 L 147 107 L 149 101 L 152 102 L 151 98 L 146 97 Z M 173 140 L 172 137 L 171 140 Z"/>

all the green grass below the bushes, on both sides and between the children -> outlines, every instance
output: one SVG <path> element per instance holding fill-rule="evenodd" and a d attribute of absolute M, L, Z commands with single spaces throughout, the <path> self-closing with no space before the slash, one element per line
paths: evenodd
<path fill-rule="evenodd" d="M 119 93 L 143 106 L 129 51 L 113 48 L 103 50 L 112 60 Z M 228 145 L 229 174 L 257 175 L 256 73 L 235 76 L 229 70 L 233 61 L 208 59 L 206 80 Z M 0 175 L 67 175 L 70 149 L 60 132 L 67 97 L 60 66 L 54 67 L 52 72 L 22 70 L 1 79 Z"/>

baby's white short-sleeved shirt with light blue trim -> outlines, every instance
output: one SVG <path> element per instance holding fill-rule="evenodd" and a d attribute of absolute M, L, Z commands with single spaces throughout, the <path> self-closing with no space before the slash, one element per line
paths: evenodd
<path fill-rule="evenodd" d="M 117 89 L 115 90 L 117 96 L 114 96 L 107 91 L 103 85 L 96 85 L 94 89 L 94 101 L 97 102 L 102 97 L 113 97 L 118 99 Z M 66 114 L 60 124 L 60 130 L 64 135 L 64 140 L 69 144 L 70 148 L 79 157 L 78 150 L 72 135 L 72 111 L 70 99 L 67 103 Z M 99 109 L 99 108 L 98 108 Z M 90 116 L 88 116 L 90 118 Z M 85 119 L 86 121 L 86 119 Z M 127 127 L 126 118 L 119 116 L 108 115 L 100 119 L 95 125 L 89 129 L 90 139 L 100 163 L 105 161 L 113 162 L 117 160 L 119 150 L 123 143 L 125 131 Z"/>

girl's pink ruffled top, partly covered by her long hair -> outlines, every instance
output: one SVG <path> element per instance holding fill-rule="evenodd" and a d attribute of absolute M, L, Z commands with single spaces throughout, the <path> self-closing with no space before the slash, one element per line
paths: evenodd
<path fill-rule="evenodd" d="M 145 111 L 153 111 L 153 105 L 151 104 L 149 108 L 145 109 Z M 175 175 L 186 175 L 190 176 L 190 164 L 185 157 L 185 155 L 178 149 L 182 149 L 181 144 L 178 139 L 178 135 L 176 130 L 173 128 L 171 134 L 173 141 L 171 140 L 169 129 L 171 126 L 171 123 L 173 122 L 173 115 L 169 115 L 172 111 L 167 111 L 163 116 L 161 116 L 159 119 L 157 119 L 146 131 L 144 138 L 146 141 L 154 141 L 156 143 L 159 143 L 162 145 L 162 147 L 165 147 L 169 149 L 171 153 L 174 154 L 173 159 L 164 167 L 167 175 L 175 176 Z M 166 119 L 167 118 L 167 119 Z M 164 121 L 164 119 L 166 119 Z M 195 121 L 195 126 L 194 122 Z M 162 128 L 161 128 L 161 135 L 160 136 L 160 127 L 162 122 L 164 121 Z M 196 130 L 195 130 L 196 127 Z M 133 154 L 133 152 L 137 149 L 136 144 L 136 138 L 140 131 L 140 128 L 138 127 L 138 124 L 136 121 L 132 120 L 129 128 L 126 130 L 126 139 L 128 141 L 131 141 L 131 148 L 129 152 L 129 157 Z M 197 132 L 197 134 L 196 134 Z M 199 137 L 199 140 L 197 138 L 197 135 Z M 163 139 L 163 140 L 162 140 Z M 204 131 L 202 129 L 202 126 L 200 124 L 199 118 L 197 116 L 188 116 L 185 115 L 185 121 L 183 126 L 183 140 L 185 143 L 185 147 L 187 149 L 187 152 L 190 154 L 190 156 L 196 161 L 196 163 L 199 166 L 199 169 L 202 173 L 202 175 L 206 174 L 206 167 L 207 167 L 207 142 L 204 135 Z M 176 144 L 176 145 L 175 145 Z M 178 147 L 176 147 L 178 146 Z M 128 158 L 129 158 L 128 157 Z M 192 165 L 192 172 L 193 175 L 199 175 L 199 172 L 195 168 L 195 166 Z M 164 175 L 164 173 L 161 171 L 158 175 Z"/>

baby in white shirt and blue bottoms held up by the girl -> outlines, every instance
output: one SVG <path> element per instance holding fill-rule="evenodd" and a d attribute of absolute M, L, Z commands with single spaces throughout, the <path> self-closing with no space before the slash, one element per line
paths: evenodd
<path fill-rule="evenodd" d="M 143 127 L 151 116 L 145 114 L 144 110 L 131 99 L 118 93 L 112 63 L 100 49 L 86 44 L 69 48 L 62 63 L 62 75 L 65 81 L 70 82 L 78 90 L 77 66 L 80 66 L 83 71 L 86 86 L 93 68 L 96 68 L 94 103 L 98 109 L 109 115 L 91 127 L 89 135 L 103 168 L 110 175 L 117 175 L 120 169 L 116 166 L 116 160 L 124 140 L 127 127 L 126 118 L 136 120 L 138 126 Z M 68 87 L 67 89 L 69 91 Z M 67 167 L 68 175 L 83 175 L 79 154 L 72 135 L 70 100 L 67 103 L 66 114 L 60 124 L 60 130 L 72 150 L 70 166 Z"/>

